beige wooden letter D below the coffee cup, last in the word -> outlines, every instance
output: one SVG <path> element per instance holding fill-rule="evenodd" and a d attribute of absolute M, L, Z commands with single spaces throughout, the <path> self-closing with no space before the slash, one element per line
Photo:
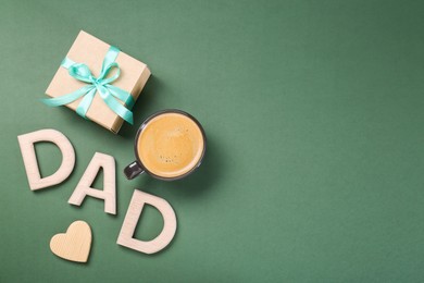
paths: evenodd
<path fill-rule="evenodd" d="M 162 232 L 148 242 L 133 237 L 145 204 L 155 207 L 163 217 Z M 116 243 L 145 254 L 154 254 L 171 243 L 175 231 L 176 217 L 170 204 L 163 198 L 135 189 Z"/>

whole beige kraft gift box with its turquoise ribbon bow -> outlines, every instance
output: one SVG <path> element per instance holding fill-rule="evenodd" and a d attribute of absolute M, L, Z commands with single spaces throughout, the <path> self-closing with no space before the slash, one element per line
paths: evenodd
<path fill-rule="evenodd" d="M 130 108 L 150 76 L 149 67 L 80 30 L 55 73 L 43 99 L 117 133 L 133 122 Z"/>

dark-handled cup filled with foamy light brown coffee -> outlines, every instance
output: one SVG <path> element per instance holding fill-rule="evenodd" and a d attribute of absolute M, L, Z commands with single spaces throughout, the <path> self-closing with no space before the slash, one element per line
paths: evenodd
<path fill-rule="evenodd" d="M 159 180 L 178 180 L 200 165 L 205 149 L 207 136 L 194 116 L 182 110 L 163 110 L 139 127 L 134 143 L 136 160 L 124 174 L 128 180 L 145 172 Z"/>

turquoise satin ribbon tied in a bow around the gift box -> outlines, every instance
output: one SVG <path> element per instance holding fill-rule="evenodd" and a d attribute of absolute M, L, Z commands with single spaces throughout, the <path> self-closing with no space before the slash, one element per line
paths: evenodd
<path fill-rule="evenodd" d="M 113 46 L 110 47 L 104 57 L 101 72 L 98 77 L 95 77 L 91 74 L 86 64 L 75 63 L 66 57 L 63 59 L 61 66 L 65 67 L 72 77 L 87 83 L 88 85 L 75 90 L 74 93 L 55 98 L 43 98 L 41 101 L 50 107 L 58 107 L 71 103 L 78 98 L 84 97 L 76 108 L 76 112 L 78 115 L 87 119 L 86 113 L 91 106 L 96 93 L 98 91 L 100 97 L 113 112 L 129 124 L 133 124 L 133 112 L 116 100 L 116 98 L 120 99 L 126 104 L 126 107 L 132 109 L 134 106 L 133 96 L 129 93 L 111 85 L 111 83 L 114 82 L 121 74 L 120 65 L 115 62 L 119 53 L 120 49 Z M 108 77 L 112 69 L 116 69 L 116 72 Z"/>

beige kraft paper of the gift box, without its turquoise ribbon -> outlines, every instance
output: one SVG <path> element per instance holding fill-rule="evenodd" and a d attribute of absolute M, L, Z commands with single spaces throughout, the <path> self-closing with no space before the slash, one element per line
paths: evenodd
<path fill-rule="evenodd" d="M 92 77 L 97 78 L 100 75 L 103 60 L 110 48 L 110 45 L 87 34 L 84 30 L 80 30 L 70 51 L 67 52 L 66 58 L 71 59 L 71 62 L 73 61 L 73 63 L 86 64 L 91 72 Z M 135 102 L 150 76 L 149 67 L 145 63 L 127 56 L 122 51 L 119 51 L 114 62 L 119 64 L 121 73 L 115 81 L 110 83 L 110 85 L 112 85 L 114 88 L 117 87 L 129 93 Z M 105 78 L 113 76 L 115 72 L 117 72 L 117 70 L 111 69 L 110 74 L 105 76 Z M 90 85 L 90 83 L 82 82 L 71 76 L 70 71 L 63 66 L 62 62 L 62 65 L 59 67 L 49 87 L 47 88 L 46 95 L 58 99 L 59 97 L 74 93 L 88 85 Z M 66 103 L 65 106 L 75 111 L 84 98 L 85 96 L 82 96 L 80 98 L 73 102 Z M 130 104 L 126 106 L 120 99 L 114 99 L 130 111 Z M 49 99 L 45 99 L 45 102 L 47 100 Z M 99 90 L 96 90 L 91 104 L 89 104 L 88 110 L 86 110 L 85 116 L 115 134 L 120 131 L 124 122 L 124 120 L 119 114 L 116 114 L 110 108 L 110 106 L 105 103 L 99 94 Z"/>

